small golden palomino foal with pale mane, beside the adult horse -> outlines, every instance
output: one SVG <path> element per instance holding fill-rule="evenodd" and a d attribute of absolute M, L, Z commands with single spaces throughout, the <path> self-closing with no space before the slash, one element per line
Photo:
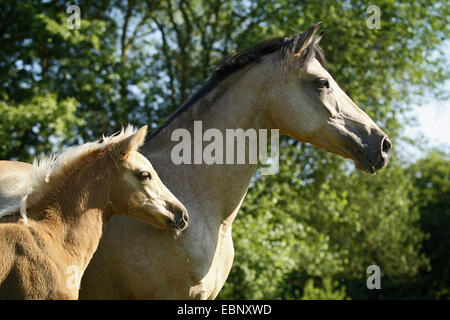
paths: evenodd
<path fill-rule="evenodd" d="M 21 218 L 0 219 L 0 298 L 77 299 L 81 276 L 113 214 L 181 232 L 187 211 L 137 152 L 132 127 L 35 162 Z M 17 210 L 18 209 L 18 210 Z"/>

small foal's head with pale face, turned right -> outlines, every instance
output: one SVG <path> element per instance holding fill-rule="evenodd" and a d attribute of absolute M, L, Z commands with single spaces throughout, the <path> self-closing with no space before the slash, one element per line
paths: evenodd
<path fill-rule="evenodd" d="M 147 126 L 142 127 L 106 150 L 117 169 L 109 186 L 110 201 L 117 214 L 179 233 L 187 227 L 189 216 L 161 182 L 150 161 L 137 151 L 146 133 Z"/>

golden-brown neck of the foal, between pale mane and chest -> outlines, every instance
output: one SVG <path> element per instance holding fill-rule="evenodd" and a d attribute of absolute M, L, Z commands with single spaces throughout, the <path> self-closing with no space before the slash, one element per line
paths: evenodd
<path fill-rule="evenodd" d="M 96 164 L 57 177 L 61 180 L 51 182 L 47 195 L 27 209 L 30 226 L 62 249 L 61 262 L 84 270 L 97 249 L 104 224 L 112 215 L 106 187 L 113 184 L 111 170 L 112 166 Z"/>

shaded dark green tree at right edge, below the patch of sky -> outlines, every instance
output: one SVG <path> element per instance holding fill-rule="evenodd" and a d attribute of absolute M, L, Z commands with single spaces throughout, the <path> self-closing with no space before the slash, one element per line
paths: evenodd
<path fill-rule="evenodd" d="M 431 265 L 414 283 L 419 289 L 416 294 L 427 299 L 450 299 L 450 157 L 433 151 L 408 172 L 416 188 L 411 196 L 420 210 L 422 230 L 428 235 L 423 252 Z"/>

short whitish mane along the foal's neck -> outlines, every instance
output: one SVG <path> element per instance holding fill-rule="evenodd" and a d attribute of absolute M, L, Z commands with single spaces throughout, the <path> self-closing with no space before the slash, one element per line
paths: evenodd
<path fill-rule="evenodd" d="M 100 140 L 68 148 L 60 154 L 52 154 L 42 158 L 34 158 L 33 168 L 28 177 L 30 181 L 28 193 L 20 199 L 19 203 L 10 205 L 0 210 L 0 218 L 13 215 L 19 211 L 24 221 L 27 222 L 27 207 L 36 204 L 47 195 L 52 183 L 55 183 L 55 180 L 57 180 L 54 178 L 69 171 L 75 164 L 85 159 L 90 154 L 103 150 L 112 144 L 118 143 L 135 134 L 136 131 L 136 128 L 128 125 L 126 128 L 122 128 L 121 131 L 115 134 L 103 136 Z M 29 199 L 30 196 L 32 196 L 32 201 Z"/>

